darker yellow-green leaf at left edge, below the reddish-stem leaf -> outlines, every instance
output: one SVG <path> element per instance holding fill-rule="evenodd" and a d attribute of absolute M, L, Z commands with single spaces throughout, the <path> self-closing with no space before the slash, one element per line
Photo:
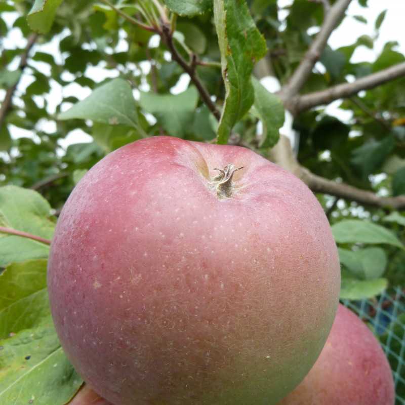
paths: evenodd
<path fill-rule="evenodd" d="M 0 339 L 48 318 L 47 260 L 13 263 L 0 274 Z M 29 308 L 29 310 L 27 310 Z"/>

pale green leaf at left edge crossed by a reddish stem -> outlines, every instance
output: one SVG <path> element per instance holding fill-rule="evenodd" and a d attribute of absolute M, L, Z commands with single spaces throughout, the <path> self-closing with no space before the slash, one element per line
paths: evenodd
<path fill-rule="evenodd" d="M 0 226 L 52 239 L 55 220 L 48 201 L 33 190 L 0 187 Z M 0 232 L 0 266 L 26 259 L 47 258 L 49 246 Z"/>

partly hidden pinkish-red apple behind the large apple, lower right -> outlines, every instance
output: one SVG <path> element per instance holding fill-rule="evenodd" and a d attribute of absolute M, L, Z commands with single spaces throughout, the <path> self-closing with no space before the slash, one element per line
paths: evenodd
<path fill-rule="evenodd" d="M 302 383 L 278 405 L 393 405 L 388 360 L 373 333 L 339 304 L 327 343 Z"/>

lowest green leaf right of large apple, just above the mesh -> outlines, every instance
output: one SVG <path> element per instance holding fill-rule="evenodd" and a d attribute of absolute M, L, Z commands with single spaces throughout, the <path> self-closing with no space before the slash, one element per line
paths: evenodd
<path fill-rule="evenodd" d="M 388 286 L 385 278 L 359 280 L 349 273 L 342 271 L 340 298 L 347 300 L 362 300 L 381 294 Z"/>

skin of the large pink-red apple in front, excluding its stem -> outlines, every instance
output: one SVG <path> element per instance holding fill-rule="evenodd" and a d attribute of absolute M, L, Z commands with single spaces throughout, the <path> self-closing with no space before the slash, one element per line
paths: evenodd
<path fill-rule="evenodd" d="M 219 198 L 229 163 L 244 169 Z M 340 267 L 292 174 L 246 148 L 152 137 L 72 191 L 48 288 L 66 355 L 115 405 L 271 405 L 325 344 Z"/>

